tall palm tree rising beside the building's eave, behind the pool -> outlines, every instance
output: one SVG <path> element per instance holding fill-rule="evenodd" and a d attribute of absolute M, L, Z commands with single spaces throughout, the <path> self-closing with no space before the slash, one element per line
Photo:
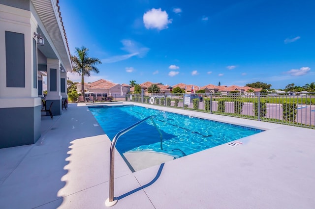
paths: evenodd
<path fill-rule="evenodd" d="M 95 67 L 96 64 L 102 64 L 98 58 L 89 57 L 89 49 L 82 46 L 82 48 L 75 48 L 77 56 L 71 55 L 73 64 L 73 71 L 81 76 L 81 94 L 84 97 L 84 77 L 90 77 L 91 72 L 99 73 Z"/>

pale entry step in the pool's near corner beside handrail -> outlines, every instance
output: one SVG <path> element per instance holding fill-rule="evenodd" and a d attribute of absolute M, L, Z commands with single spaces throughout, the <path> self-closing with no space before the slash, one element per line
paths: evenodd
<path fill-rule="evenodd" d="M 150 150 L 128 151 L 123 155 L 128 161 L 127 164 L 129 164 L 129 166 L 131 166 L 134 171 L 139 171 L 145 168 L 159 165 L 162 164 L 163 162 L 167 162 L 180 157 L 176 155 L 170 155 L 167 153 L 155 152 Z"/>

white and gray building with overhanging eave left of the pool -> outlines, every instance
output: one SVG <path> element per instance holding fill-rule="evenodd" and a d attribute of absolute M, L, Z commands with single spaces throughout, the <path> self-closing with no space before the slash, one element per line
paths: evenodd
<path fill-rule="evenodd" d="M 70 52 L 58 0 L 0 0 L 0 148 L 40 138 L 43 77 L 47 106 L 62 114 Z"/>

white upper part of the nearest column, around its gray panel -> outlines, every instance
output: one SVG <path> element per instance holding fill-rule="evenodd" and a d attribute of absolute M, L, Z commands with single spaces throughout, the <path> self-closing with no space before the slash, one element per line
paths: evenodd
<path fill-rule="evenodd" d="M 22 101 L 23 107 L 41 104 L 38 90 L 33 88 L 32 41 L 36 28 L 37 21 L 30 11 L 0 4 L 0 108 L 21 106 Z M 5 31 L 24 34 L 25 88 L 6 87 Z"/>

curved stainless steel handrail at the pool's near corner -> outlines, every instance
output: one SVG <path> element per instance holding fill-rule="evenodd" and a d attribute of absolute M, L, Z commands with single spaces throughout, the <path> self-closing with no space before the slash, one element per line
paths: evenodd
<path fill-rule="evenodd" d="M 158 129 L 157 124 L 154 122 L 153 118 L 155 116 L 149 116 L 146 117 L 145 119 L 133 124 L 132 126 L 129 126 L 128 128 L 119 131 L 113 138 L 112 143 L 110 145 L 110 157 L 109 157 L 109 198 L 106 200 L 105 205 L 106 206 L 114 206 L 117 202 L 117 199 L 114 200 L 114 162 L 115 162 L 115 146 L 118 138 L 122 135 L 124 135 L 126 132 L 132 130 L 133 128 L 137 127 L 138 125 L 142 124 L 144 121 L 148 120 L 149 118 L 151 119 L 153 125 L 156 127 L 158 130 L 158 133 L 160 134 L 160 140 L 161 140 L 161 149 L 163 150 L 162 147 L 162 133 Z"/>

